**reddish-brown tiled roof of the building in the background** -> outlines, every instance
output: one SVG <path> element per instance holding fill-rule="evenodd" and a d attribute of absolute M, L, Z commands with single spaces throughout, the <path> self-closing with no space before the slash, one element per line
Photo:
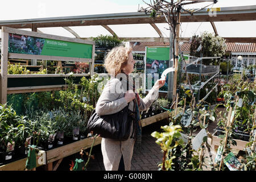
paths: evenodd
<path fill-rule="evenodd" d="M 145 51 L 146 46 L 170 46 L 169 42 L 130 42 L 133 51 Z M 256 43 L 226 43 L 226 51 L 228 52 L 256 52 Z M 180 44 L 182 52 L 190 52 L 190 44 L 183 42 Z"/>

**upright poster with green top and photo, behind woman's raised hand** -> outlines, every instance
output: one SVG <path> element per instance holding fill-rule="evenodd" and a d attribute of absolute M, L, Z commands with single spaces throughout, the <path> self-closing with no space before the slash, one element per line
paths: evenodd
<path fill-rule="evenodd" d="M 146 90 L 150 90 L 154 86 L 155 81 L 161 78 L 161 75 L 165 69 L 168 68 L 170 58 L 170 47 L 157 46 L 157 47 L 146 47 L 146 60 L 145 60 L 145 73 L 146 78 Z M 159 92 L 168 92 L 168 76 L 166 77 L 166 83 Z"/>

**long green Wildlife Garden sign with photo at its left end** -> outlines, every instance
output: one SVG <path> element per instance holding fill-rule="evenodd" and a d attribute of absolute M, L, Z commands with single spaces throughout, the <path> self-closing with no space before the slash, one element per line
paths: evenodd
<path fill-rule="evenodd" d="M 9 34 L 9 52 L 92 59 L 92 44 Z"/>

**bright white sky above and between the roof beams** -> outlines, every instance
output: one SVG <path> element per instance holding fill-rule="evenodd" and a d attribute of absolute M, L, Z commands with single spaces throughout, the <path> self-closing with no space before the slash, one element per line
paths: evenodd
<path fill-rule="evenodd" d="M 150 0 L 145 0 L 150 2 Z M 208 3 L 199 3 L 186 6 L 185 8 L 199 8 Z M 231 7 L 256 5 L 256 0 L 219 0 L 210 7 Z M 147 7 L 142 0 L 18 0 L 1 1 L 0 21 L 15 19 L 49 18 L 59 16 L 110 14 L 137 12 L 138 7 Z M 6 8 L 5 8 L 6 7 Z M 216 22 L 218 34 L 220 36 L 255 37 L 256 20 L 253 22 Z M 166 28 L 167 24 L 157 24 L 163 35 L 170 34 Z M 158 37 L 158 34 L 148 24 L 112 25 L 109 26 L 119 37 Z M 75 37 L 61 27 L 38 28 L 46 34 Z M 81 37 L 111 35 L 101 26 L 72 27 Z M 136 30 L 136 31 L 135 31 Z M 203 31 L 213 32 L 209 22 L 205 23 L 181 23 L 181 36 L 189 37 L 193 34 L 200 34 Z"/>

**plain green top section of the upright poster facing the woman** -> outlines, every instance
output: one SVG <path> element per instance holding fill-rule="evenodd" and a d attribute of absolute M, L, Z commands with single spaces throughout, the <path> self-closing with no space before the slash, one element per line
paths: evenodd
<path fill-rule="evenodd" d="M 146 54 L 149 59 L 169 60 L 170 47 L 147 47 Z"/>

